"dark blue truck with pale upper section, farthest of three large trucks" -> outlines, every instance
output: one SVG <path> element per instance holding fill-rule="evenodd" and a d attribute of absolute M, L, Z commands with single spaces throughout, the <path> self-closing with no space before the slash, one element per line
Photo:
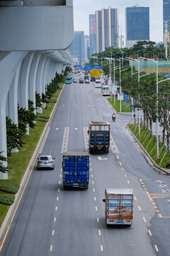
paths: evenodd
<path fill-rule="evenodd" d="M 110 124 L 107 121 L 89 121 L 89 152 L 108 153 L 110 146 Z"/>

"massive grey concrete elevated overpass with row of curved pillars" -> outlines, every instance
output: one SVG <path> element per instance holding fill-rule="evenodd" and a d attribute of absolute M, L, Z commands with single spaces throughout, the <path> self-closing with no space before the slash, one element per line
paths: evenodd
<path fill-rule="evenodd" d="M 6 116 L 18 124 L 18 104 L 28 110 L 32 100 L 35 107 L 35 91 L 45 93 L 55 73 L 72 64 L 73 3 L 0 1 L 0 24 L 0 151 L 7 156 Z"/>

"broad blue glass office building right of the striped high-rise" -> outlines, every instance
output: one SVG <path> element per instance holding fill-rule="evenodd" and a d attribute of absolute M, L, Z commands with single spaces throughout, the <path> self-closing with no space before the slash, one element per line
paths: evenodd
<path fill-rule="evenodd" d="M 149 7 L 138 4 L 125 9 L 126 46 L 131 47 L 137 41 L 149 41 Z"/>

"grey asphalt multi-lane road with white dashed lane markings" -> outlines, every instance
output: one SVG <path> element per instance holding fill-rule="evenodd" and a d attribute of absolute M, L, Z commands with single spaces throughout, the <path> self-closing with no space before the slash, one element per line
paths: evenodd
<path fill-rule="evenodd" d="M 3 256 L 169 256 L 169 176 L 147 164 L 125 124 L 90 84 L 66 85 L 41 154 L 55 156 L 54 171 L 35 167 L 13 218 Z M 62 153 L 88 151 L 89 120 L 111 123 L 109 154 L 90 155 L 89 189 L 62 188 Z M 98 156 L 101 156 L 98 158 Z M 132 226 L 107 228 L 105 188 L 131 188 Z"/>

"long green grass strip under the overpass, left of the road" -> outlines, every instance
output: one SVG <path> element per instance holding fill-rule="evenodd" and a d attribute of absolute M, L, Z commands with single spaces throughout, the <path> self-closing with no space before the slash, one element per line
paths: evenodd
<path fill-rule="evenodd" d="M 38 114 L 38 119 L 40 118 L 48 120 L 50 118 L 50 114 L 55 107 L 55 102 L 60 95 L 63 85 L 63 83 L 60 83 L 60 89 L 58 89 L 50 99 L 52 102 L 47 103 L 47 113 L 45 113 L 45 109 L 43 109 L 42 114 Z M 14 199 L 13 195 L 6 194 L 4 191 L 13 194 L 18 191 L 19 184 L 21 183 L 23 175 L 26 172 L 27 166 L 31 157 L 33 156 L 40 136 L 45 129 L 45 125 L 46 122 L 37 120 L 34 129 L 30 128 L 29 135 L 23 136 L 24 144 L 20 151 L 18 153 L 12 153 L 11 156 L 8 157 L 8 180 L 0 181 L 0 226 L 4 221 L 6 213 L 8 212 L 8 207 L 2 203 L 11 204 Z"/>

